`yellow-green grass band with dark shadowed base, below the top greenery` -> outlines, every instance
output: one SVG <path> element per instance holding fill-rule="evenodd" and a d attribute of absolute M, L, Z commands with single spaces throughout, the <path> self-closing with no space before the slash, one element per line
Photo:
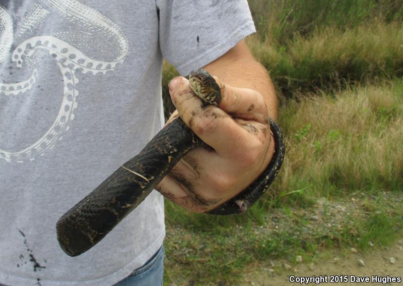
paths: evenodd
<path fill-rule="evenodd" d="M 402 24 L 316 29 L 308 37 L 295 35 L 285 46 L 257 36 L 246 42 L 286 96 L 403 75 Z"/>

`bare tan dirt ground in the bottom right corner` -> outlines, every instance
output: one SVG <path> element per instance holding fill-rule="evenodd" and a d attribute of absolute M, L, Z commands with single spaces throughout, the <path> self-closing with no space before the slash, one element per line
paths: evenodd
<path fill-rule="evenodd" d="M 372 275 L 400 277 L 400 280 L 403 278 L 403 240 L 398 240 L 391 247 L 374 248 L 374 250 L 365 253 L 360 253 L 353 248 L 345 254 L 333 252 L 328 257 L 314 259 L 313 261 L 302 261 L 289 265 L 287 262 L 278 260 L 254 269 L 256 271 L 244 275 L 241 281 L 242 285 L 301 284 L 299 282 L 290 282 L 290 275 L 295 277 L 326 276 L 328 282 L 320 282 L 318 285 L 384 285 L 386 283 L 382 284 L 381 281 L 372 282 Z M 347 275 L 348 282 L 330 282 L 331 275 Z M 354 279 L 351 276 L 356 278 Z M 369 277 L 370 282 L 357 282 L 358 276 Z M 315 285 L 315 283 L 310 282 L 308 285 Z M 387 283 L 387 285 L 403 285 L 403 281 Z"/>

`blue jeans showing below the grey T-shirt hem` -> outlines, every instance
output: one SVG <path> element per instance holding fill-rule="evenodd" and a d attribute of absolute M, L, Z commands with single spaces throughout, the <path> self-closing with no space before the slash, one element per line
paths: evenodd
<path fill-rule="evenodd" d="M 113 286 L 160 286 L 164 274 L 164 246 L 142 267 L 131 272 L 126 278 Z"/>

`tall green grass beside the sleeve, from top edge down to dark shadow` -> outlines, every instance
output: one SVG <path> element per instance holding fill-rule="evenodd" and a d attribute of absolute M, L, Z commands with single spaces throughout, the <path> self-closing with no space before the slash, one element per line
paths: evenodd
<path fill-rule="evenodd" d="M 248 45 L 286 96 L 402 75 L 402 1 L 248 3 L 257 28 Z"/>

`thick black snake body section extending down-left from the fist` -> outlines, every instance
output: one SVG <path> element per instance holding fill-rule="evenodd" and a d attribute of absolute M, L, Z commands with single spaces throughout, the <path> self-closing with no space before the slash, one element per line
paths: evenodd
<path fill-rule="evenodd" d="M 61 249 L 77 256 L 92 248 L 152 192 L 184 154 L 201 144 L 180 118 L 172 121 L 137 156 L 59 218 L 56 233 Z"/>

